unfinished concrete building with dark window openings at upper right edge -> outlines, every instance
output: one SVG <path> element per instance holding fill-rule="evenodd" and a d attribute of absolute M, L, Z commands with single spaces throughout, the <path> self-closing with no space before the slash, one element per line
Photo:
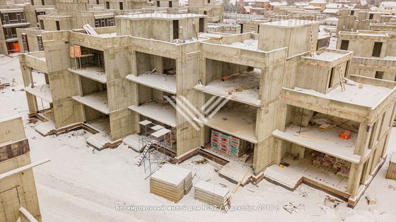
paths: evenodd
<path fill-rule="evenodd" d="M 337 31 L 337 49 L 354 52 L 351 74 L 396 81 L 395 16 L 343 10 Z"/>

